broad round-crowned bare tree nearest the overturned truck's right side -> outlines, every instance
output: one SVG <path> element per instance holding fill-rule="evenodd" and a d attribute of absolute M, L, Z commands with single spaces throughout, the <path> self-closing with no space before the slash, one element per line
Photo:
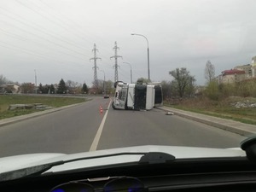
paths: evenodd
<path fill-rule="evenodd" d="M 195 78 L 189 74 L 186 68 L 177 68 L 169 72 L 169 74 L 174 78 L 172 86 L 175 86 L 180 97 L 183 97 L 185 92 L 192 95 L 191 91 L 194 90 Z"/>

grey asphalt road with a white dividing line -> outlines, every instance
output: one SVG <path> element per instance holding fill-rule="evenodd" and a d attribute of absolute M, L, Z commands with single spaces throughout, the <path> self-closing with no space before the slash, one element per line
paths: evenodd
<path fill-rule="evenodd" d="M 72 154 L 149 144 L 234 148 L 245 138 L 176 115 L 166 115 L 157 108 L 121 111 L 108 107 L 108 99 L 95 97 L 77 107 L 2 126 L 0 157 Z"/>

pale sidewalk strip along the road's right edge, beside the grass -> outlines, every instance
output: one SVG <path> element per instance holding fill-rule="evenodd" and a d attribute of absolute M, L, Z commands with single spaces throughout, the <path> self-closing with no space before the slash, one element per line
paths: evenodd
<path fill-rule="evenodd" d="M 256 125 L 244 124 L 235 120 L 221 119 L 206 114 L 193 113 L 166 106 L 158 108 L 166 112 L 172 112 L 174 115 L 212 125 L 226 131 L 235 132 L 241 136 L 251 137 L 256 134 Z"/>

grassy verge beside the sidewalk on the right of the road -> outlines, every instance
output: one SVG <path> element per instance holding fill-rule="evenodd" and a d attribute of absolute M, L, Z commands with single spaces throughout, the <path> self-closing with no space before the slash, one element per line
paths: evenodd
<path fill-rule="evenodd" d="M 219 102 L 207 98 L 186 99 L 179 102 L 165 102 L 166 106 L 194 113 L 212 115 L 218 118 L 233 119 L 241 123 L 256 125 L 256 108 L 236 108 L 234 102 L 256 102 L 255 98 L 230 97 Z"/>

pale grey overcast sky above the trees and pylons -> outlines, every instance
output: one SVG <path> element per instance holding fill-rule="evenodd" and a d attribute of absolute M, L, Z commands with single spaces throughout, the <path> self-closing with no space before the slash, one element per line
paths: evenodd
<path fill-rule="evenodd" d="M 255 0 L 0 0 L 0 75 L 9 80 L 91 84 L 93 45 L 97 67 L 114 79 L 113 46 L 119 47 L 119 80 L 172 80 L 186 67 L 205 84 L 207 60 L 216 75 L 248 64 L 256 55 Z M 103 79 L 98 71 L 98 79 Z"/>

